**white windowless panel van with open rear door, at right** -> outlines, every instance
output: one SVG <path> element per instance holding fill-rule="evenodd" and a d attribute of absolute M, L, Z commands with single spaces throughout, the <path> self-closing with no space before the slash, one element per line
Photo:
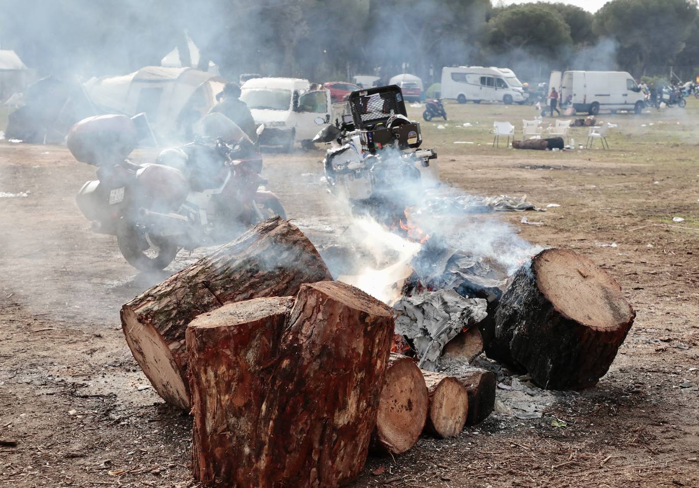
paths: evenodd
<path fill-rule="evenodd" d="M 627 110 L 640 114 L 645 107 L 644 94 L 626 71 L 552 71 L 550 87 L 560 87 L 559 100 L 563 104 L 570 97 L 576 112 L 596 115 L 600 110 Z"/>

